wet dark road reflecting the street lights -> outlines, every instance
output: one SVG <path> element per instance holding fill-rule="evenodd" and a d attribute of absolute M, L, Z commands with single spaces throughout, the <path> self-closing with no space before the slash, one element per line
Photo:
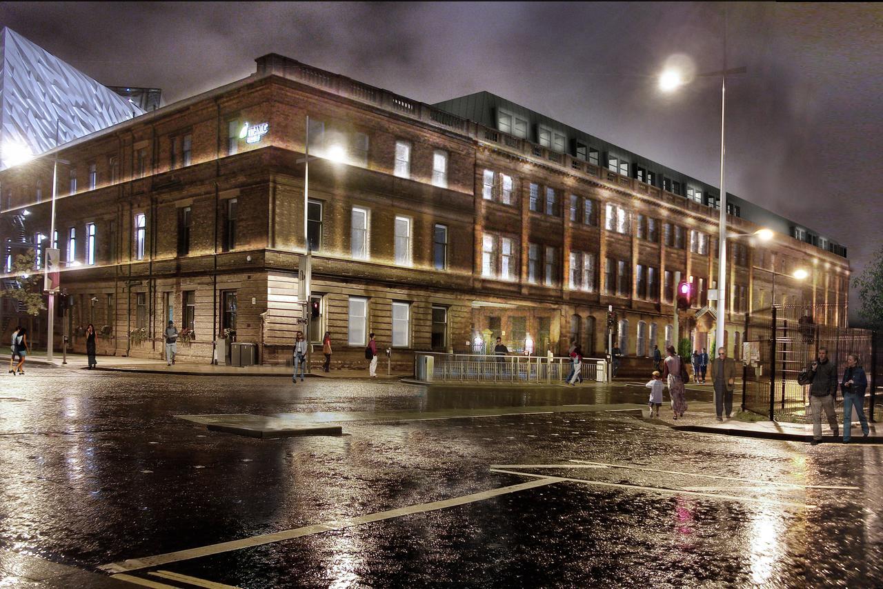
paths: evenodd
<path fill-rule="evenodd" d="M 883 585 L 881 447 L 590 411 L 644 402 L 32 368 L 0 393 L 0 543 L 178 587 Z M 344 435 L 176 417 L 219 413 Z"/>

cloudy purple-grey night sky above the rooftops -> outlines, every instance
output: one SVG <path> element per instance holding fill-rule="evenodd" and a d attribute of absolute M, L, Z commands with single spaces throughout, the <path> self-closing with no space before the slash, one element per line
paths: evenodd
<path fill-rule="evenodd" d="M 109 86 L 175 102 L 275 52 L 423 102 L 488 90 L 719 184 L 724 4 L 4 3 L 0 26 Z M 883 6 L 726 4 L 727 188 L 849 247 L 883 244 Z M 851 316 L 858 303 L 850 298 Z"/>

